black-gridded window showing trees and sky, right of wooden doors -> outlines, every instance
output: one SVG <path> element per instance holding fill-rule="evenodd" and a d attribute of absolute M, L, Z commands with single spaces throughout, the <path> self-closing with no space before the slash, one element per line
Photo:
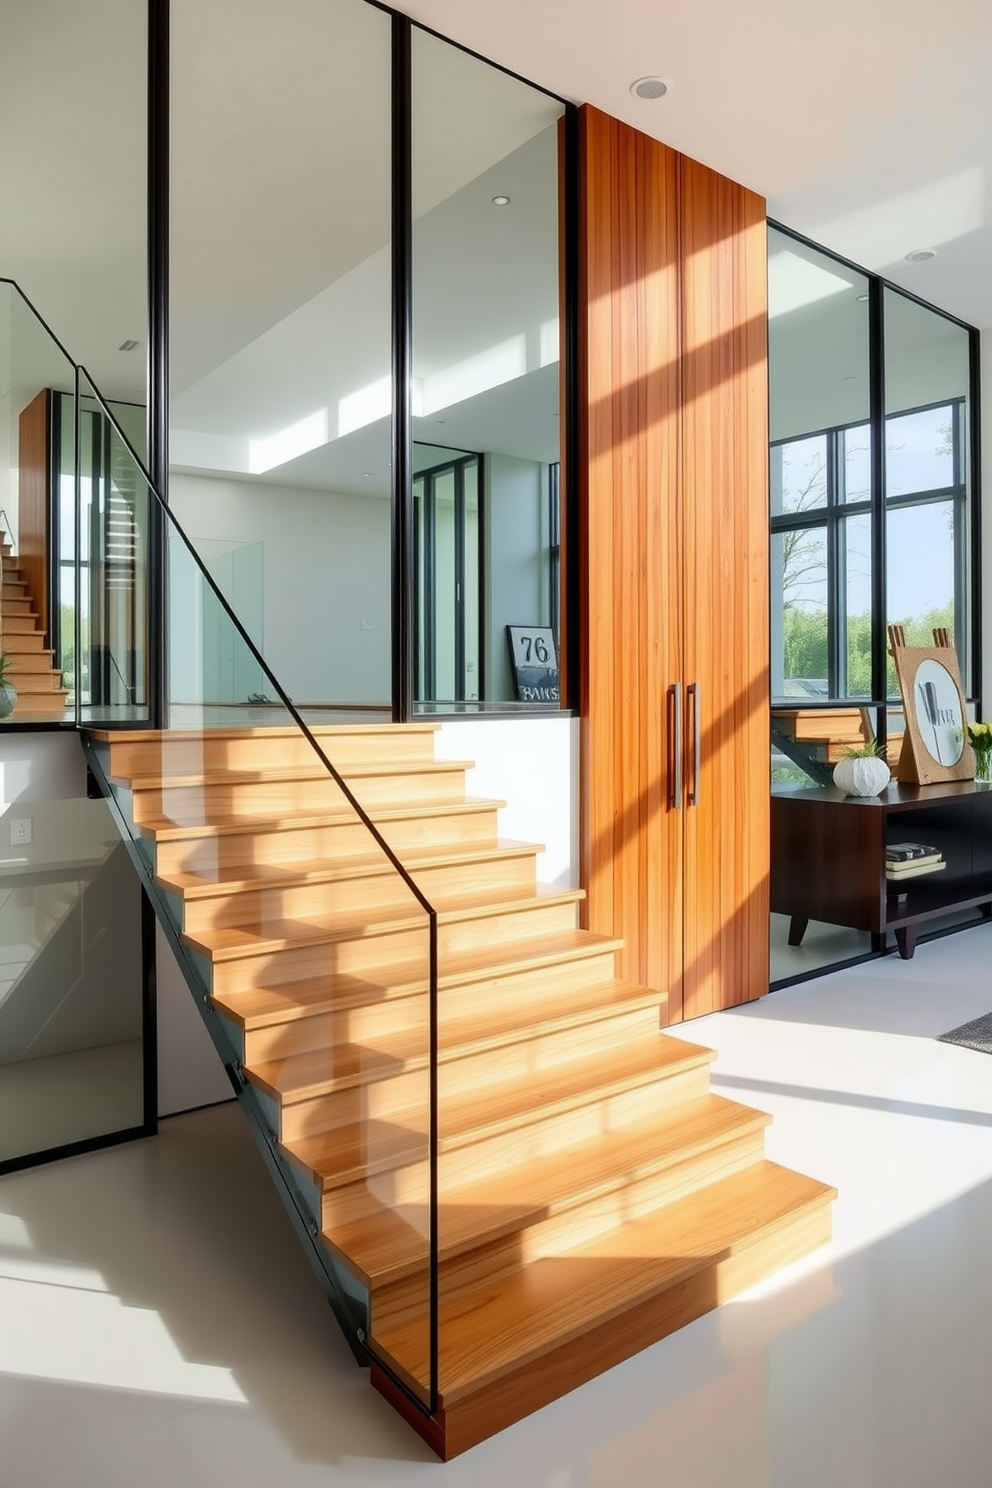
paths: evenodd
<path fill-rule="evenodd" d="M 968 656 L 964 399 L 885 420 L 889 622 Z M 872 698 L 870 426 L 772 445 L 772 695 Z M 888 695 L 897 695 L 889 668 Z"/>

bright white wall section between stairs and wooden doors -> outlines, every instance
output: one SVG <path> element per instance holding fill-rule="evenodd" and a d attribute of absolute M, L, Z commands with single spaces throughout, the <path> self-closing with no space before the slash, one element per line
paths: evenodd
<path fill-rule="evenodd" d="M 470 759 L 466 792 L 506 801 L 500 836 L 540 842 L 541 884 L 579 884 L 579 719 L 448 719 L 436 734 L 437 759 Z"/>

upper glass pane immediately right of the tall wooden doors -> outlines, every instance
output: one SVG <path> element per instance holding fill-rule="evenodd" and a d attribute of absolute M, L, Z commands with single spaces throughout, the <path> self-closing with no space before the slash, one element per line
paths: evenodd
<path fill-rule="evenodd" d="M 869 281 L 769 231 L 772 696 L 870 696 Z M 867 676 L 866 676 L 867 668 Z"/>

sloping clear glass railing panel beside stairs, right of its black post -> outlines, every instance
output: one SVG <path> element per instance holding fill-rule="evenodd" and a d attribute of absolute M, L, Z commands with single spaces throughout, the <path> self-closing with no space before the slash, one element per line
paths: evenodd
<path fill-rule="evenodd" d="M 131 741 L 116 753 L 113 735 L 91 744 L 95 766 L 150 868 L 159 917 L 214 1042 L 360 1344 L 433 1412 L 434 911 L 360 804 L 360 787 L 348 784 L 350 771 L 375 780 L 372 735 L 299 714 L 82 369 L 79 384 L 80 409 L 103 415 L 110 472 L 89 504 L 79 488 L 77 521 L 91 524 L 80 655 L 94 726 L 147 716 L 156 552 L 168 637 L 167 728 L 144 751 Z M 335 745 L 351 751 L 341 769 Z M 293 835 L 297 847 L 280 845 Z M 314 853 L 317 838 L 339 838 L 341 847 L 332 841 Z M 370 1030 L 369 1007 L 397 990 L 408 1003 L 399 1031 Z M 265 1022 L 287 1003 L 299 1016 Z M 248 1009 L 263 1019 L 260 1030 L 248 1027 Z M 303 1030 L 306 1012 L 312 1033 Z M 363 1217 L 379 1242 L 385 1237 L 402 1277 L 382 1289 L 381 1303 L 379 1292 L 370 1302 L 361 1295 L 372 1269 Z M 403 1317 L 399 1357 L 376 1348 L 378 1306 L 391 1327 Z M 412 1318 L 422 1326 L 410 1327 Z"/>

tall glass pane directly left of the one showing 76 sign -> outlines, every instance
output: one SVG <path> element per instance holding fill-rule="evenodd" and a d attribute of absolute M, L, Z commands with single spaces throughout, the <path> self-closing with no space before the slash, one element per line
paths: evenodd
<path fill-rule="evenodd" d="M 391 698 L 390 16 L 174 0 L 171 24 L 171 504 L 290 696 L 375 716 Z"/>

